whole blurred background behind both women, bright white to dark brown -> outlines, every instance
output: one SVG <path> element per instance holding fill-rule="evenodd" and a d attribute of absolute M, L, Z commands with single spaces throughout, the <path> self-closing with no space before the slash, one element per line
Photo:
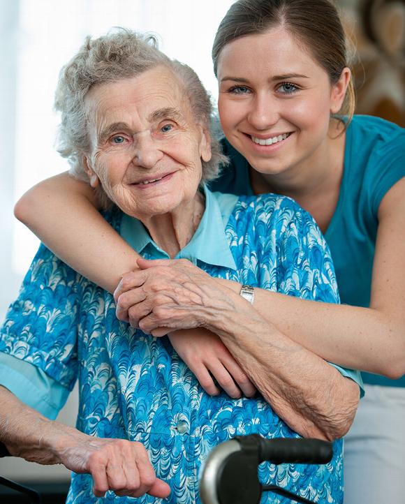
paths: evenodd
<path fill-rule="evenodd" d="M 216 100 L 211 45 L 232 0 L 0 0 L 0 317 L 17 295 L 38 240 L 13 218 L 13 205 L 29 187 L 68 169 L 54 151 L 58 117 L 52 110 L 61 66 L 84 36 L 110 27 L 152 31 L 170 57 L 192 66 Z M 339 0 L 353 40 L 356 112 L 405 126 L 405 1 Z M 405 157 L 405 153 L 404 153 Z M 1 405 L 0 405 L 1 407 Z M 74 424 L 77 395 L 59 420 Z M 40 485 L 59 502 L 68 481 L 62 467 L 0 459 L 0 475 Z M 17 503 L 5 496 L 1 503 Z M 51 494 L 51 491 L 53 494 Z M 60 498 L 63 501 L 63 498 Z"/>

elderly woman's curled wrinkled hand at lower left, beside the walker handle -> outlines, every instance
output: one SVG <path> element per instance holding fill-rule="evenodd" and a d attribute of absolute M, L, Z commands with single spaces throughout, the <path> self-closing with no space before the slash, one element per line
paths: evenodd
<path fill-rule="evenodd" d="M 59 457 L 75 473 L 91 474 L 96 497 L 108 490 L 117 496 L 131 497 L 150 494 L 165 498 L 170 494 L 168 484 L 156 477 L 142 443 L 93 438 L 78 432 L 71 434 L 67 442 L 64 440 Z"/>

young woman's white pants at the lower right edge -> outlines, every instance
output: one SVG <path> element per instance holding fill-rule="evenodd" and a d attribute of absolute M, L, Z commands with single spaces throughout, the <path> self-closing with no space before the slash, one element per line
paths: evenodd
<path fill-rule="evenodd" d="M 344 504 L 404 504 L 405 388 L 364 390 L 344 440 Z"/>

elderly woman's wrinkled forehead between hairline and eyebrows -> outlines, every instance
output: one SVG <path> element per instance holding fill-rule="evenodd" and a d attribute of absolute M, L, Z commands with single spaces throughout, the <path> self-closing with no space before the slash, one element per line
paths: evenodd
<path fill-rule="evenodd" d="M 149 69 L 136 77 L 96 84 L 85 99 L 87 117 L 93 126 L 105 121 L 131 121 L 144 126 L 159 118 L 154 112 L 177 110 L 189 119 L 191 103 L 175 73 L 165 66 Z"/>

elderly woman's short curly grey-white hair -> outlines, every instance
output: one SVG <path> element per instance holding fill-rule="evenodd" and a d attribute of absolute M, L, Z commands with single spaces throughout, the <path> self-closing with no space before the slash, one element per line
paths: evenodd
<path fill-rule="evenodd" d="M 84 170 L 84 156 L 91 144 L 87 128 L 84 98 L 89 89 L 105 82 L 136 77 L 159 65 L 168 66 L 184 85 L 184 93 L 191 103 L 197 122 L 211 133 L 212 158 L 202 161 L 202 182 L 215 179 L 219 166 L 227 158 L 221 154 L 217 135 L 213 131 L 212 103 L 197 74 L 187 65 L 171 60 L 157 48 L 156 38 L 137 34 L 124 28 L 104 36 L 87 37 L 78 54 L 61 69 L 55 96 L 55 109 L 61 112 L 57 149 L 68 159 L 71 175 L 89 181 Z M 101 205 L 108 207 L 104 193 L 98 193 Z"/>

